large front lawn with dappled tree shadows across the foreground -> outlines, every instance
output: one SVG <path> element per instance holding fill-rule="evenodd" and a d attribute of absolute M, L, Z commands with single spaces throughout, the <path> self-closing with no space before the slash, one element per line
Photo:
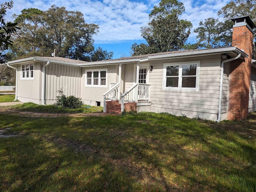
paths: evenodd
<path fill-rule="evenodd" d="M 0 138 L 0 191 L 256 189 L 255 114 L 218 124 L 154 113 L 0 114 L 0 129 L 19 135 Z"/>

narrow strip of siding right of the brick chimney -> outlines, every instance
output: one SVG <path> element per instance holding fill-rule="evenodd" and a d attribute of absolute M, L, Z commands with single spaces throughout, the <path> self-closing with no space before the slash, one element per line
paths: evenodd
<path fill-rule="evenodd" d="M 256 111 L 256 69 L 252 68 L 248 112 Z"/>

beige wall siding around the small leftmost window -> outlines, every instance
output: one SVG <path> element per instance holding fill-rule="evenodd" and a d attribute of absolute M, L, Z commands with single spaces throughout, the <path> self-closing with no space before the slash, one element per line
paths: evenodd
<path fill-rule="evenodd" d="M 18 65 L 18 86 L 17 96 L 21 102 L 33 102 L 42 104 L 41 100 L 41 80 L 42 80 L 42 62 L 28 62 L 34 63 L 34 79 L 21 79 L 21 65 Z"/>

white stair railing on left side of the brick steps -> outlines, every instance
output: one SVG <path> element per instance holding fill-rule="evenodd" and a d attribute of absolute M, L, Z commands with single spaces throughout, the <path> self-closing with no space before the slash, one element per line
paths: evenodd
<path fill-rule="evenodd" d="M 114 83 L 112 83 L 112 85 L 110 85 L 110 87 L 112 86 L 112 88 L 110 88 L 110 90 L 108 90 L 107 92 L 105 92 L 103 94 L 103 96 L 104 96 L 103 112 L 104 113 L 107 112 L 106 100 L 119 100 L 120 99 L 120 83 L 116 83 L 115 85 L 114 85 Z"/>

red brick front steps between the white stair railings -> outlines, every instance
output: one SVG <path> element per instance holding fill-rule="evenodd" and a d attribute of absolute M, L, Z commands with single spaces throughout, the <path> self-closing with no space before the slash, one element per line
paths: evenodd
<path fill-rule="evenodd" d="M 106 102 L 107 113 L 121 114 L 121 101 L 107 101 Z M 124 110 L 126 112 L 135 111 L 137 112 L 137 103 L 124 103 Z"/>

